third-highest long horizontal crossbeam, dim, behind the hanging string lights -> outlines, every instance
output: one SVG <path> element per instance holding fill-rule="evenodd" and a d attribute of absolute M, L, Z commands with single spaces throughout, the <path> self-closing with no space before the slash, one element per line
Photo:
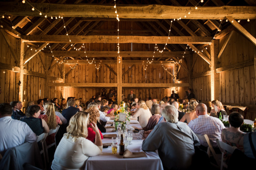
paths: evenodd
<path fill-rule="evenodd" d="M 53 51 L 46 52 L 45 53 L 48 56 L 65 56 L 65 57 L 86 57 L 84 51 Z M 86 54 L 88 57 L 116 57 L 117 52 L 116 51 L 86 51 Z M 153 56 L 153 51 L 122 51 L 121 56 L 122 57 L 149 57 Z M 154 54 L 154 57 L 162 57 L 162 58 L 170 58 L 170 57 L 182 57 L 184 54 L 184 51 L 163 51 L 162 53 L 156 52 Z M 190 55 L 191 52 L 187 51 L 184 56 Z"/>

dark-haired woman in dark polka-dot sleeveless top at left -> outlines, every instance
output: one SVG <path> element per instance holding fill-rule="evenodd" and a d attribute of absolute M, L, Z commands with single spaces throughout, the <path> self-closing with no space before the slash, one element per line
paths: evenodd
<path fill-rule="evenodd" d="M 39 136 L 43 132 L 48 133 L 49 127 L 44 119 L 38 118 L 41 114 L 40 106 L 32 105 L 28 107 L 27 117 L 21 119 L 21 121 L 28 124 L 31 130 Z"/>

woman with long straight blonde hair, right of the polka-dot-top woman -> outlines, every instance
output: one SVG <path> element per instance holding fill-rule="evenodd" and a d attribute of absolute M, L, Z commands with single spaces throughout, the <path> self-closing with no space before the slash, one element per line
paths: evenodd
<path fill-rule="evenodd" d="M 49 127 L 49 129 L 56 129 L 56 127 L 62 124 L 59 116 L 55 115 L 55 104 L 51 102 L 44 103 L 43 107 L 45 109 L 45 114 L 39 116 L 40 119 L 44 119 Z M 55 134 L 51 134 L 46 138 L 46 144 L 52 144 L 55 142 Z"/>

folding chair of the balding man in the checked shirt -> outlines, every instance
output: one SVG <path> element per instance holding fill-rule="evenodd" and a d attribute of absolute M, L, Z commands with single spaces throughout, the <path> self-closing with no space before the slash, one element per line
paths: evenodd
<path fill-rule="evenodd" d="M 211 145 L 211 142 L 210 142 L 210 139 L 208 138 L 208 136 L 206 134 L 204 135 L 199 135 L 199 134 L 196 134 L 198 139 L 201 140 L 201 141 L 204 141 L 204 142 L 207 142 L 208 144 L 208 148 L 207 148 L 207 154 L 209 157 L 213 156 L 213 158 L 215 159 L 218 167 L 220 167 L 220 154 L 216 154 L 215 153 L 215 150 L 213 149 L 213 146 Z M 215 165 L 212 163 L 212 165 Z"/>

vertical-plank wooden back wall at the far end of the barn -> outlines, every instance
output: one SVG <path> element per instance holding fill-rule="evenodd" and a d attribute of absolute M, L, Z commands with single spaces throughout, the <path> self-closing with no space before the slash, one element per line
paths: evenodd
<path fill-rule="evenodd" d="M 124 60 L 123 60 L 124 61 Z M 69 65 L 71 66 L 71 65 Z M 66 72 L 69 71 L 69 66 L 66 66 Z M 72 65 L 73 66 L 73 65 Z M 109 65 L 114 71 L 116 71 L 116 64 Z M 124 73 L 132 65 L 124 65 L 122 72 Z M 171 66 L 168 71 L 173 73 L 173 67 Z M 81 64 L 76 66 L 72 70 L 71 74 L 66 77 L 66 83 L 116 83 L 117 78 L 105 65 L 101 64 L 100 69 L 96 69 L 93 64 Z M 161 65 L 149 65 L 147 70 L 143 70 L 142 65 L 135 65 L 132 69 L 124 75 L 123 83 L 173 83 L 173 79 Z M 108 93 L 111 88 L 106 88 Z M 88 101 L 92 96 L 101 94 L 101 88 L 66 88 L 65 98 L 68 96 L 74 96 L 76 98 L 83 98 L 83 101 Z M 151 96 L 152 98 L 162 99 L 164 96 L 170 96 L 174 89 L 130 89 L 123 88 L 122 93 L 124 96 L 130 93 L 130 90 L 134 90 L 134 94 L 141 100 L 145 97 Z"/>

